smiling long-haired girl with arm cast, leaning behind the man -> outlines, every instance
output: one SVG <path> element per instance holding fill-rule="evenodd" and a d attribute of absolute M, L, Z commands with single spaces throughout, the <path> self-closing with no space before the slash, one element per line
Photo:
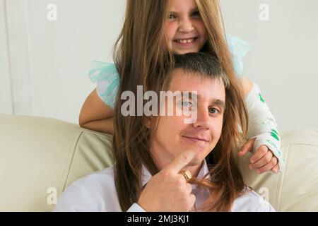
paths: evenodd
<path fill-rule="evenodd" d="M 229 52 L 229 47 L 232 53 Z M 148 76 L 165 76 L 172 54 L 207 52 L 218 57 L 225 73 L 238 79 L 249 114 L 248 138 L 238 155 L 252 151 L 250 169 L 278 172 L 284 167 L 276 121 L 259 87 L 242 76 L 248 44 L 225 38 L 218 0 L 128 0 L 124 27 L 114 49 L 114 63 L 94 62 L 90 80 L 98 86 L 88 96 L 79 117 L 84 128 L 114 133 L 114 104 L 119 79 L 146 89 Z M 169 57 L 167 57 L 169 56 Z M 135 86 L 135 87 L 136 87 Z M 129 88 L 126 87 L 126 90 Z M 244 109 L 243 109 L 244 110 Z"/>

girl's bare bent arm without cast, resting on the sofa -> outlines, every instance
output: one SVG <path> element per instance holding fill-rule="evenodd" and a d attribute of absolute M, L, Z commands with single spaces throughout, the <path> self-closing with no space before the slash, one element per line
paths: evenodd
<path fill-rule="evenodd" d="M 96 89 L 86 98 L 78 121 L 83 128 L 114 134 L 114 111 L 100 100 Z"/>

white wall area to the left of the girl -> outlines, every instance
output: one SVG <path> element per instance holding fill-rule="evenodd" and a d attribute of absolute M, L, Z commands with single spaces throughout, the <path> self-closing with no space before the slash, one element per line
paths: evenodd
<path fill-rule="evenodd" d="M 49 4 L 57 21 L 47 20 Z M 0 0 L 0 7 L 0 112 L 78 123 L 95 88 L 90 61 L 112 60 L 125 1 Z"/>

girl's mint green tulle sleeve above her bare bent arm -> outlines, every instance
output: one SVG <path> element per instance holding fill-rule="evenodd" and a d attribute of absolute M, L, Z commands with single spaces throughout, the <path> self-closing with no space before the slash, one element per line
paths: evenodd
<path fill-rule="evenodd" d="M 97 83 L 96 91 L 106 105 L 114 109 L 119 88 L 119 74 L 114 64 L 93 61 L 88 76 L 90 81 Z"/>

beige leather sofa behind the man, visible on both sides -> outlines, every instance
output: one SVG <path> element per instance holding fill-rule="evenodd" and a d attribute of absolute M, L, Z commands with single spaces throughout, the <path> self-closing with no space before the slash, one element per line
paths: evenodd
<path fill-rule="evenodd" d="M 282 174 L 246 183 L 278 211 L 318 211 L 318 130 L 284 131 Z M 0 114 L 0 210 L 51 211 L 74 180 L 112 165 L 112 137 L 57 119 Z"/>

